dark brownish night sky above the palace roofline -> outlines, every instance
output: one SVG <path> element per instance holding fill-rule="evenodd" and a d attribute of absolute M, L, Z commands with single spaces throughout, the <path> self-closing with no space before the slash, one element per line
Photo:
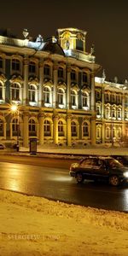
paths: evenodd
<path fill-rule="evenodd" d="M 95 44 L 96 63 L 107 80 L 128 79 L 128 3 L 126 0 L 4 0 L 0 28 L 19 38 L 27 28 L 33 38 L 55 35 L 57 28 L 76 27 L 87 32 L 86 51 Z M 97 76 L 102 75 L 98 73 Z"/>

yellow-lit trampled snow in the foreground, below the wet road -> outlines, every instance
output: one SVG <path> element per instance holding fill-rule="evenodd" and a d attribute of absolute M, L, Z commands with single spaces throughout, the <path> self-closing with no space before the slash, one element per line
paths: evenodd
<path fill-rule="evenodd" d="M 0 190 L 0 256 L 127 256 L 128 214 Z"/>

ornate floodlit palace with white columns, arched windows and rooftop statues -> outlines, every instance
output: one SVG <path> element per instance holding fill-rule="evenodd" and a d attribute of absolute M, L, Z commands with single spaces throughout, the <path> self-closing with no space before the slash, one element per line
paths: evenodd
<path fill-rule="evenodd" d="M 0 36 L 0 143 L 38 145 L 122 142 L 128 137 L 127 83 L 97 78 L 86 32 L 58 29 L 36 41 Z M 17 105 L 13 112 L 11 106 Z"/>

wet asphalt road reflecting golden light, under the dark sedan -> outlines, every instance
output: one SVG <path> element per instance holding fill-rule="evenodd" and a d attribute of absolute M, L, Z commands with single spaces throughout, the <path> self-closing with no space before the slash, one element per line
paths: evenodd
<path fill-rule="evenodd" d="M 0 163 L 1 189 L 85 207 L 128 211 L 128 185 L 118 188 L 93 182 L 78 185 L 68 174 L 74 160 L 3 156 L 3 161 L 7 159 L 14 163 Z"/>

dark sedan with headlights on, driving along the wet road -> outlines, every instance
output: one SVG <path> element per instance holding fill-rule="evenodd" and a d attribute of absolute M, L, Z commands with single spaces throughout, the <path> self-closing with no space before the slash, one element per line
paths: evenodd
<path fill-rule="evenodd" d="M 128 182 L 128 167 L 123 166 L 112 157 L 86 157 L 79 163 L 70 166 L 71 177 L 75 177 L 78 183 L 88 180 L 106 180 L 113 186 L 122 182 Z"/>

